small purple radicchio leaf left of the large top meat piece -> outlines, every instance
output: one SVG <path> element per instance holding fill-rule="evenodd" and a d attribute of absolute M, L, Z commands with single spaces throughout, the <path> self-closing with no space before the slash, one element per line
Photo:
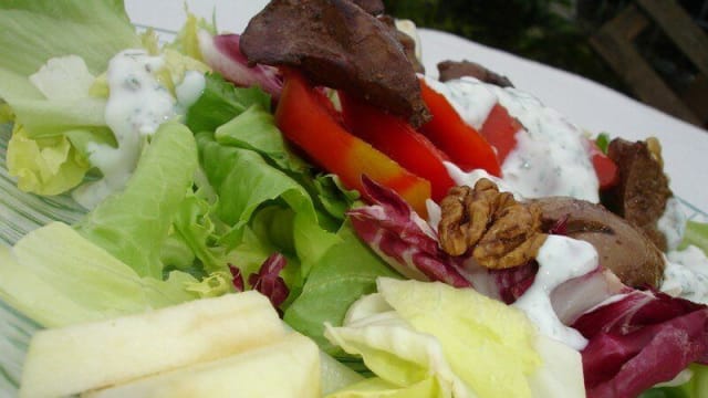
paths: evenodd
<path fill-rule="evenodd" d="M 207 31 L 199 31 L 199 51 L 204 61 L 226 80 L 241 87 L 260 86 L 273 96 L 280 97 L 283 82 L 278 69 L 268 65 L 248 64 L 248 60 L 239 48 L 239 34 L 211 35 Z"/>

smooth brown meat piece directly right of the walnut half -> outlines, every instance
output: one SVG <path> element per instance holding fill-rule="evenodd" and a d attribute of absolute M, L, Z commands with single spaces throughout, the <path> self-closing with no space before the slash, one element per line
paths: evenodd
<path fill-rule="evenodd" d="M 562 233 L 592 243 L 600 264 L 625 284 L 658 287 L 664 275 L 662 252 L 624 219 L 589 201 L 554 197 L 533 200 L 541 208 L 543 230 L 561 224 Z"/>

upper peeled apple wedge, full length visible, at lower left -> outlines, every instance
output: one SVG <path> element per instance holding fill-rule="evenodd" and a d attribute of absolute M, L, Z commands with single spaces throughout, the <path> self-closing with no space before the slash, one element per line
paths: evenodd
<path fill-rule="evenodd" d="M 188 302 L 116 320 L 38 332 L 20 397 L 59 397 L 272 344 L 285 329 L 258 292 Z"/>

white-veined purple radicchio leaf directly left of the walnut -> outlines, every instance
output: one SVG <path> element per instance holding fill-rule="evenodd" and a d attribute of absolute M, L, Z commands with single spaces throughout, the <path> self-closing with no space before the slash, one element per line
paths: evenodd
<path fill-rule="evenodd" d="M 362 182 L 376 205 L 347 212 L 360 239 L 407 277 L 471 286 L 455 260 L 439 249 L 435 231 L 405 200 L 366 176 Z"/>

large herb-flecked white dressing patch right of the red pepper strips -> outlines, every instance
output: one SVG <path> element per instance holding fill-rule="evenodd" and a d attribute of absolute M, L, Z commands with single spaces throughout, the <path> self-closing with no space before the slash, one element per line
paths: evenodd
<path fill-rule="evenodd" d="M 570 196 L 598 202 L 598 181 L 583 132 L 556 111 L 521 91 L 472 77 L 428 80 L 466 123 L 479 128 L 498 102 L 525 127 L 501 166 L 503 181 L 525 198 Z"/>

